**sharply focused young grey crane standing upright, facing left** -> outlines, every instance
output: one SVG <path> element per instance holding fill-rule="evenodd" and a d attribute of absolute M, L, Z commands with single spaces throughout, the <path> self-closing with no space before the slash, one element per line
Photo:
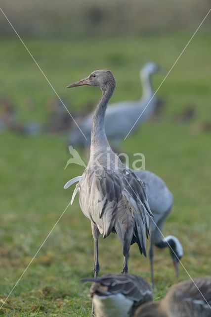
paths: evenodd
<path fill-rule="evenodd" d="M 122 272 L 126 273 L 131 244 L 136 242 L 140 252 L 146 256 L 145 231 L 148 236 L 149 216 L 153 215 L 143 183 L 111 150 L 105 134 L 105 111 L 116 86 L 112 72 L 94 71 L 87 78 L 68 87 L 81 85 L 100 87 L 102 97 L 93 116 L 89 162 L 83 175 L 78 178 L 73 199 L 79 192 L 81 209 L 91 221 L 95 242 L 95 277 L 99 271 L 99 235 L 105 238 L 111 232 L 116 232 L 120 238 L 124 254 Z M 73 180 L 76 181 L 77 178 Z"/>

